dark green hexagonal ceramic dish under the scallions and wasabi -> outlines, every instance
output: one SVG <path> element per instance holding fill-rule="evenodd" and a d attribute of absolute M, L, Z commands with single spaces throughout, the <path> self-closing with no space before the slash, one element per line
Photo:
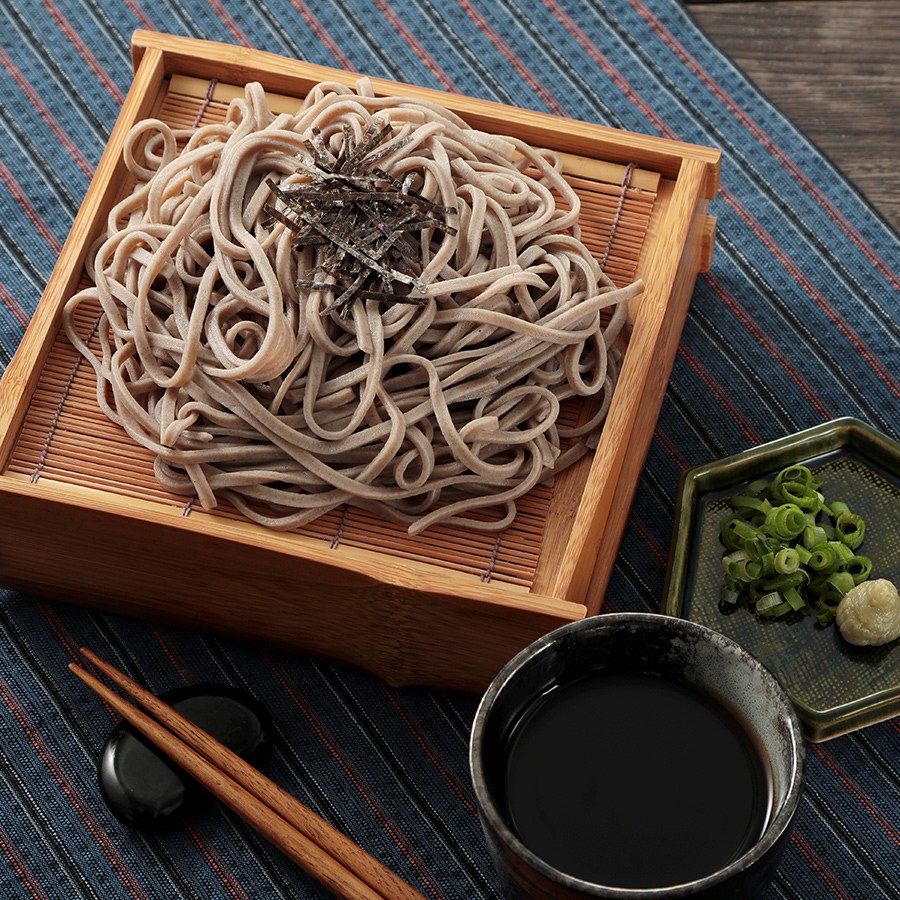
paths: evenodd
<path fill-rule="evenodd" d="M 900 712 L 900 641 L 856 647 L 836 624 L 822 627 L 811 615 L 760 619 L 745 606 L 719 609 L 719 526 L 728 497 L 798 463 L 823 480 L 827 498 L 844 500 L 865 519 L 860 552 L 872 559 L 872 577 L 900 585 L 900 443 L 843 418 L 682 475 L 662 611 L 749 650 L 781 681 L 807 737 L 823 741 Z"/>

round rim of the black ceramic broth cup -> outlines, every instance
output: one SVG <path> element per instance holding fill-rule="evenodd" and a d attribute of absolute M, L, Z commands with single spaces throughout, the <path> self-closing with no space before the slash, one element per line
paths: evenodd
<path fill-rule="evenodd" d="M 723 642 L 733 651 L 737 652 L 747 664 L 757 669 L 763 678 L 771 682 L 771 686 L 779 697 L 785 713 L 785 718 L 790 731 L 792 765 L 784 801 L 778 812 L 766 826 L 762 837 L 749 850 L 737 859 L 732 860 L 727 866 L 693 881 L 687 881 L 677 885 L 666 885 L 664 887 L 627 888 L 599 885 L 569 875 L 554 868 L 549 863 L 544 862 L 544 860 L 534 854 L 524 843 L 522 843 L 500 814 L 487 786 L 482 758 L 483 754 L 481 752 L 484 729 L 494 703 L 506 684 L 529 660 L 546 652 L 550 646 L 557 643 L 561 638 L 571 632 L 592 631 L 615 626 L 617 623 L 644 623 L 651 626 L 659 626 L 663 623 L 668 623 L 669 625 L 671 623 L 677 623 L 678 627 L 683 628 L 686 631 L 706 633 L 710 637 L 714 636 L 717 641 Z M 569 622 L 555 628 L 553 631 L 537 638 L 527 647 L 524 647 L 513 656 L 512 659 L 504 664 L 482 695 L 475 712 L 469 742 L 469 768 L 475 789 L 475 799 L 479 808 L 479 815 L 487 820 L 487 824 L 490 825 L 494 832 L 499 834 L 503 841 L 513 849 L 515 854 L 523 859 L 532 869 L 541 873 L 549 880 L 567 887 L 570 890 L 579 891 L 588 897 L 601 897 L 607 898 L 607 900 L 635 900 L 637 897 L 658 897 L 660 900 L 666 900 L 666 898 L 691 896 L 698 891 L 707 890 L 727 881 L 734 875 L 752 866 L 757 860 L 768 853 L 776 843 L 778 843 L 784 833 L 789 829 L 803 793 L 806 773 L 806 745 L 797 710 L 781 683 L 763 663 L 736 641 L 705 625 L 691 622 L 688 619 L 669 616 L 664 613 L 601 613 L 579 619 L 575 622 Z"/>

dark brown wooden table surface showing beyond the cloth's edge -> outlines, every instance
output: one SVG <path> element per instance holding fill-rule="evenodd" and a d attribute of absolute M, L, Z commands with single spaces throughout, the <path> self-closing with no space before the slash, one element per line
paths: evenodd
<path fill-rule="evenodd" d="M 686 6 L 900 231 L 900 0 Z"/>

